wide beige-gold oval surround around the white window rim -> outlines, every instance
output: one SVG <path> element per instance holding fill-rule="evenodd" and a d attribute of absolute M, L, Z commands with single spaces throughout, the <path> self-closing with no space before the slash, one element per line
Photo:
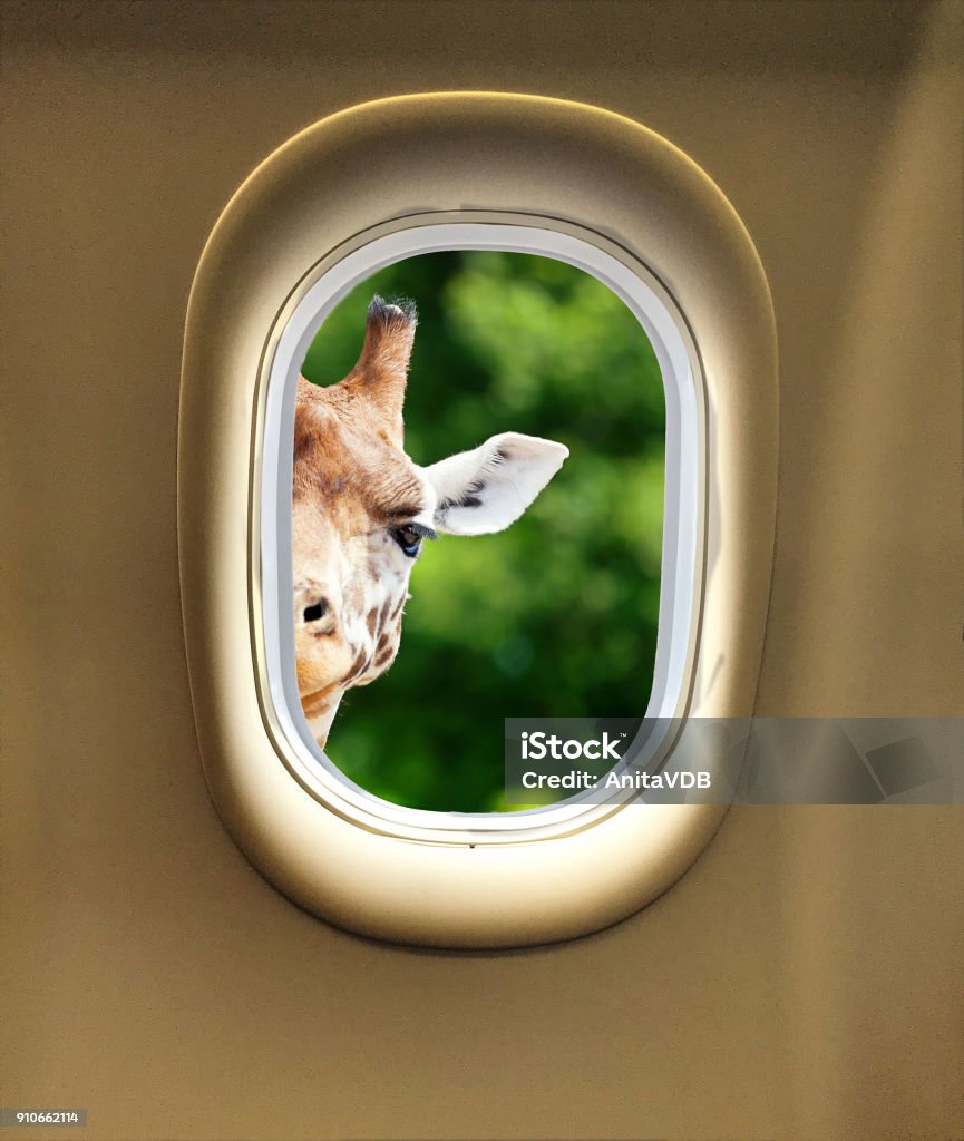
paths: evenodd
<path fill-rule="evenodd" d="M 575 177 L 560 180 L 560 162 Z M 702 589 L 678 714 L 753 712 L 776 515 L 776 341 L 759 258 L 707 176 L 637 123 L 553 99 L 408 96 L 323 120 L 254 171 L 205 246 L 185 335 L 178 527 L 192 697 L 218 812 L 256 868 L 340 926 L 418 945 L 521 946 L 639 909 L 689 867 L 726 806 L 569 804 L 469 827 L 388 806 L 386 827 L 382 809 L 373 818 L 306 783 L 265 666 L 264 424 L 282 332 L 357 249 L 453 224 L 578 236 L 680 315 L 703 386 L 704 467 Z"/>

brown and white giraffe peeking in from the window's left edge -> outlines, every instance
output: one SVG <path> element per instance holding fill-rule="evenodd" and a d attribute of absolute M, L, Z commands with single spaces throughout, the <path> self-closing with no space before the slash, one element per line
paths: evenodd
<path fill-rule="evenodd" d="M 515 523 L 568 448 L 518 432 L 419 467 L 403 445 L 418 322 L 375 294 L 354 369 L 321 388 L 299 378 L 292 559 L 298 690 L 324 748 L 345 691 L 395 661 L 408 577 L 424 540 Z"/>

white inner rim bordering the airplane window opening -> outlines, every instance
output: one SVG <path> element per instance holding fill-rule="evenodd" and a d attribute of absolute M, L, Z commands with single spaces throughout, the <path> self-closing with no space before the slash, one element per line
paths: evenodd
<path fill-rule="evenodd" d="M 444 216 L 443 216 L 444 218 Z M 702 592 L 705 513 L 706 394 L 696 346 L 673 299 L 639 261 L 599 234 L 558 221 L 504 215 L 500 220 L 405 219 L 319 270 L 284 321 L 266 362 L 261 407 L 259 558 L 254 596 L 261 599 L 262 701 L 283 739 L 282 753 L 301 784 L 359 825 L 407 839 L 497 843 L 586 824 L 633 799 L 619 792 L 606 803 L 598 793 L 511 814 L 423 811 L 389 803 L 349 780 L 317 746 L 301 714 L 291 618 L 291 488 L 294 400 L 301 363 L 325 317 L 359 282 L 394 262 L 444 250 L 534 253 L 576 266 L 607 285 L 629 307 L 656 354 L 666 404 L 665 492 L 659 616 L 653 689 L 640 695 L 642 713 L 669 731 L 688 704 Z M 591 399 L 588 393 L 586 398 Z M 641 539 L 642 536 L 640 536 Z M 256 539 L 256 542 L 258 540 Z M 404 653 L 404 637 L 403 649 Z M 266 683 L 265 683 L 266 682 Z M 451 695 L 449 695 L 451 696 Z M 457 696 L 456 696 L 457 699 Z M 467 698 L 468 699 L 468 698 Z M 602 713 L 603 711 L 600 711 Z M 422 711 L 431 717 L 431 704 Z M 444 715 L 444 712 L 440 714 Z M 642 715 L 642 714 L 640 714 Z M 332 735 L 338 734 L 338 720 Z M 643 763 L 666 743 L 651 736 Z M 404 747 L 404 746 L 400 746 Z"/>

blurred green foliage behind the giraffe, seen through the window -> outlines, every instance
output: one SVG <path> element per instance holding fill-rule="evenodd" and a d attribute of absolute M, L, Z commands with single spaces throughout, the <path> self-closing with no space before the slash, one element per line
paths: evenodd
<path fill-rule="evenodd" d="M 503 718 L 646 710 L 663 528 L 659 369 L 635 317 L 583 270 L 445 251 L 353 290 L 308 350 L 308 380 L 349 372 L 373 293 L 419 308 L 405 402 L 416 463 L 501 431 L 560 440 L 570 455 L 508 531 L 424 544 L 398 658 L 346 694 L 329 755 L 398 804 L 508 811 Z"/>

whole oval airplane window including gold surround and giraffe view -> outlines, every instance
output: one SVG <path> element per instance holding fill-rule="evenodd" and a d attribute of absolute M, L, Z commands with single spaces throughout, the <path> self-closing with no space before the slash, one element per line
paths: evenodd
<path fill-rule="evenodd" d="M 379 100 L 252 172 L 191 293 L 178 537 L 205 778 L 266 879 L 479 948 L 683 874 L 724 796 L 592 798 L 510 758 L 529 721 L 645 718 L 642 760 L 683 763 L 674 723 L 752 715 L 776 359 L 745 227 L 623 116 Z M 608 766 L 599 736 L 564 760 Z"/>

